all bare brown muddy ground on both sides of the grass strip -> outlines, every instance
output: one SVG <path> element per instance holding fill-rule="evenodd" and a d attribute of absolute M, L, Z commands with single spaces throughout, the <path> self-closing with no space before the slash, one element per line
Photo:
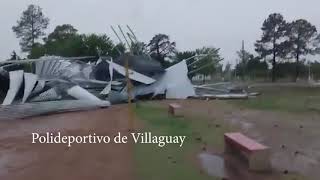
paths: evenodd
<path fill-rule="evenodd" d="M 160 101 L 166 106 L 172 101 Z M 177 101 L 174 101 L 177 102 Z M 222 119 L 272 148 L 277 172 L 320 177 L 320 115 L 239 108 L 226 101 L 180 102 L 187 115 Z M 133 178 L 130 144 L 32 144 L 31 133 L 114 135 L 128 133 L 125 105 L 108 109 L 0 121 L 0 179 L 114 180 Z M 236 170 L 235 170 L 236 171 Z M 241 173 L 241 172 L 240 172 Z M 247 176 L 247 175 L 244 175 Z"/>

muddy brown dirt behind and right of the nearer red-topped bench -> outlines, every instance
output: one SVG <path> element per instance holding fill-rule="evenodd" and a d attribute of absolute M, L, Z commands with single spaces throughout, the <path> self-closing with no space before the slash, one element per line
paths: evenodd
<path fill-rule="evenodd" d="M 218 100 L 187 100 L 180 103 L 191 116 L 223 120 L 271 147 L 271 163 L 275 171 L 299 173 L 315 180 L 320 177 L 319 113 L 249 110 Z"/>

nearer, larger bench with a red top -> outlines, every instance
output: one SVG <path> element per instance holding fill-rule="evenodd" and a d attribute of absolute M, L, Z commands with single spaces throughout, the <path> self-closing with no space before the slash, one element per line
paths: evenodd
<path fill-rule="evenodd" d="M 225 133 L 225 152 L 240 152 L 248 159 L 249 169 L 253 171 L 270 170 L 270 149 L 241 133 Z"/>

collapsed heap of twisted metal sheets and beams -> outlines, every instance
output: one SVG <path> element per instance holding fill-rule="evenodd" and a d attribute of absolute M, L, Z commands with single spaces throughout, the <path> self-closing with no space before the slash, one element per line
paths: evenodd
<path fill-rule="evenodd" d="M 131 43 L 138 42 L 129 26 L 131 34 L 127 33 L 128 39 L 120 26 L 119 29 L 128 49 L 128 39 Z M 112 30 L 122 42 L 113 27 Z M 206 56 L 196 55 L 167 69 L 147 53 L 124 53 L 117 59 L 108 56 L 98 59 L 44 56 L 40 59 L 0 62 L 0 92 L 5 94 L 0 114 L 14 119 L 58 111 L 109 107 L 130 99 L 212 97 L 212 94 L 201 93 L 197 96 L 196 90 L 216 89 L 207 85 L 194 86 L 188 78 L 187 61 L 193 59 L 192 63 L 188 63 L 190 67 Z M 208 65 L 211 63 L 205 66 Z M 129 87 L 131 84 L 132 88 Z M 248 97 L 245 93 L 240 96 Z"/>

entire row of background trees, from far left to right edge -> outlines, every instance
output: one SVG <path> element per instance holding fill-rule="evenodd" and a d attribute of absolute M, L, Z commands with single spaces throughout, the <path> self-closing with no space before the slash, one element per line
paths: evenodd
<path fill-rule="evenodd" d="M 202 74 L 221 74 L 226 77 L 238 76 L 245 78 L 277 78 L 292 76 L 297 80 L 312 70 L 320 77 L 318 63 L 305 64 L 307 55 L 319 54 L 320 35 L 314 25 L 304 19 L 287 22 L 279 13 L 270 14 L 262 24 L 262 35 L 256 41 L 253 55 L 244 48 L 237 52 L 238 60 L 234 69 L 227 64 L 222 70 L 219 48 L 202 47 L 190 51 L 178 51 L 176 43 L 166 34 L 155 35 L 148 43 L 131 41 L 129 46 L 115 43 L 106 34 L 81 34 L 71 24 L 55 27 L 48 35 L 45 30 L 49 18 L 44 15 L 41 7 L 29 5 L 22 12 L 17 24 L 12 27 L 20 39 L 21 50 L 28 58 L 39 58 L 44 55 L 78 57 L 78 56 L 111 56 L 118 58 L 130 51 L 135 55 L 147 54 L 159 61 L 163 67 L 203 55 L 201 61 L 197 58 L 187 61 L 190 77 Z M 13 52 L 11 59 L 20 57 Z M 270 70 L 271 68 L 271 70 Z M 317 74 L 319 72 L 319 75 Z"/>

